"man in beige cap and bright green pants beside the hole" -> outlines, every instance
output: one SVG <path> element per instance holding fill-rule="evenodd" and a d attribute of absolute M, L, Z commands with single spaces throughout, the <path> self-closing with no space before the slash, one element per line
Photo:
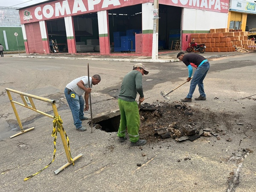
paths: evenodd
<path fill-rule="evenodd" d="M 127 128 L 132 146 L 144 145 L 147 142 L 140 140 L 139 137 L 140 114 L 138 104 L 135 101 L 137 93 L 140 95 L 139 101 L 144 101 L 142 76 L 147 74 L 148 71 L 143 64 L 135 64 L 133 70 L 125 75 L 118 97 L 121 119 L 117 136 L 120 142 L 124 142 Z"/>

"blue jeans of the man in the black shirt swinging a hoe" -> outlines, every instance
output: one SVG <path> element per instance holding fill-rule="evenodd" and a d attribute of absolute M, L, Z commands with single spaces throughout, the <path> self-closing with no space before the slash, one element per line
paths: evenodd
<path fill-rule="evenodd" d="M 206 97 L 206 95 L 204 93 L 203 81 L 204 81 L 204 78 L 205 78 L 209 68 L 210 68 L 210 64 L 208 61 L 206 61 L 195 70 L 193 79 L 191 80 L 191 83 L 190 83 L 189 94 L 186 96 L 186 98 L 192 98 L 192 95 L 195 91 L 196 85 L 198 85 L 198 90 L 199 90 L 200 95 L 202 97 Z"/>

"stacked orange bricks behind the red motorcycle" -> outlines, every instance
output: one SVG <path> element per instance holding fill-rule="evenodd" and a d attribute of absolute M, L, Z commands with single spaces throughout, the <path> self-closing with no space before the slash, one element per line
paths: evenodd
<path fill-rule="evenodd" d="M 210 33 L 191 34 L 191 42 L 205 44 L 207 52 L 233 52 L 236 47 L 244 49 L 255 49 L 255 47 L 247 47 L 255 45 L 254 41 L 247 40 L 248 32 L 235 31 L 230 29 L 210 29 Z"/>

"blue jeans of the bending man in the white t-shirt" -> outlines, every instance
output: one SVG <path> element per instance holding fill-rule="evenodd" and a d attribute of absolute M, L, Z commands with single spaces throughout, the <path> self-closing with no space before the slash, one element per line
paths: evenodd
<path fill-rule="evenodd" d="M 72 112 L 74 125 L 76 126 L 76 129 L 78 129 L 82 126 L 82 122 L 80 119 L 84 117 L 84 99 L 82 96 L 78 96 L 75 92 L 70 91 L 70 94 L 68 94 L 67 92 L 68 89 L 65 88 L 64 93 L 67 99 L 67 103 Z M 71 94 L 75 94 L 75 98 L 72 98 Z"/>

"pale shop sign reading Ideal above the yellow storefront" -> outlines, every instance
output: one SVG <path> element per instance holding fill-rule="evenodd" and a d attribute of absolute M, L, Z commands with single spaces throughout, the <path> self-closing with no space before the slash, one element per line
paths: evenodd
<path fill-rule="evenodd" d="M 230 0 L 230 11 L 256 14 L 255 5 L 254 1 Z"/>

